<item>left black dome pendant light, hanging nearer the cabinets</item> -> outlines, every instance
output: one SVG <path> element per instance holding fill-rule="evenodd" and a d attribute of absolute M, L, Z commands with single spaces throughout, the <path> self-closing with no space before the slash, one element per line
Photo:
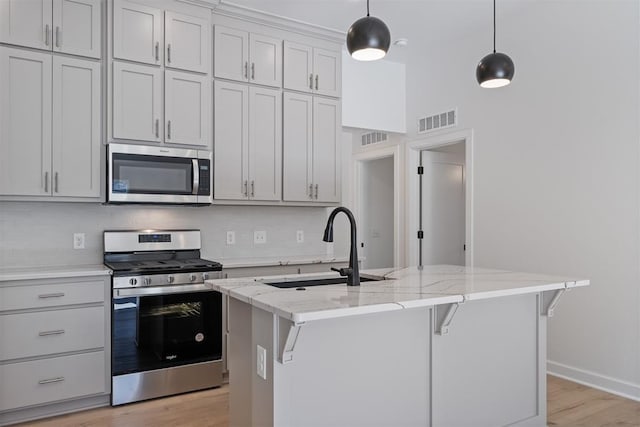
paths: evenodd
<path fill-rule="evenodd" d="M 358 61 L 375 61 L 387 54 L 390 44 L 389 28 L 380 19 L 369 16 L 367 0 L 367 16 L 358 19 L 347 31 L 349 53 Z"/>

